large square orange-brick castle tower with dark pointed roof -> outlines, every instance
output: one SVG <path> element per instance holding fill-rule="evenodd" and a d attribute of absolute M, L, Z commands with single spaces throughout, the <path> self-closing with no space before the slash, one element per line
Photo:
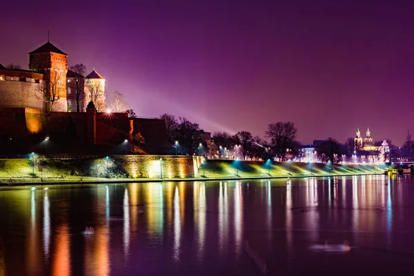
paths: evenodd
<path fill-rule="evenodd" d="M 49 86 L 52 111 L 68 110 L 66 103 L 66 73 L 68 72 L 68 55 L 49 41 L 36 50 L 29 52 L 30 70 L 43 73 L 43 84 Z M 50 107 L 46 106 L 46 110 Z"/>

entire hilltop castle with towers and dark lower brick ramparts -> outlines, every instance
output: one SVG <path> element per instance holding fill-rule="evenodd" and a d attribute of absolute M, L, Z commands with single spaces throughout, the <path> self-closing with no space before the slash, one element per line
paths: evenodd
<path fill-rule="evenodd" d="M 0 155 L 170 152 L 163 119 L 106 112 L 105 79 L 96 70 L 86 77 L 68 70 L 68 55 L 49 41 L 29 60 L 30 70 L 0 65 Z M 70 112 L 77 100 L 80 112 Z"/>

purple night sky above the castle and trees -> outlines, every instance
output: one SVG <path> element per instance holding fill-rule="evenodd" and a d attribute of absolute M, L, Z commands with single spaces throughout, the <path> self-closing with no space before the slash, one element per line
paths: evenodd
<path fill-rule="evenodd" d="M 388 3 L 387 3 L 388 2 Z M 398 2 L 398 5 L 396 4 Z M 359 127 L 414 132 L 413 1 L 26 1 L 2 3 L 0 63 L 28 68 L 47 41 L 95 66 L 142 117 L 206 131 L 293 121 L 299 141 Z"/>

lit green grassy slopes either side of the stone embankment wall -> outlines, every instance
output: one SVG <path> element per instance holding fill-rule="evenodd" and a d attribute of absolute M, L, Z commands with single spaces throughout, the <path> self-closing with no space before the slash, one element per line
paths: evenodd
<path fill-rule="evenodd" d="M 0 178 L 86 178 L 106 177 L 106 163 L 103 160 L 46 160 L 42 161 L 43 171 L 38 167 L 32 175 L 32 162 L 29 159 L 0 159 Z M 262 162 L 256 161 L 224 161 L 208 160 L 199 169 L 197 177 L 219 178 L 219 177 L 268 177 L 271 176 L 307 176 L 311 175 L 353 175 L 371 174 L 384 172 L 386 165 L 335 165 L 305 164 L 290 162 L 273 162 L 270 166 L 264 166 Z M 237 171 L 238 168 L 238 171 Z M 270 168 L 270 170 L 268 169 Z M 115 163 L 109 163 L 110 177 L 128 177 L 122 168 Z"/>

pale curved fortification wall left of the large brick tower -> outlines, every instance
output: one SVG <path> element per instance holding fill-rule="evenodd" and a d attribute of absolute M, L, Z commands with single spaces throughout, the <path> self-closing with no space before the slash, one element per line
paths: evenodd
<path fill-rule="evenodd" d="M 0 80 L 0 108 L 35 108 L 43 110 L 39 99 L 41 83 L 19 81 L 19 77 Z"/>

